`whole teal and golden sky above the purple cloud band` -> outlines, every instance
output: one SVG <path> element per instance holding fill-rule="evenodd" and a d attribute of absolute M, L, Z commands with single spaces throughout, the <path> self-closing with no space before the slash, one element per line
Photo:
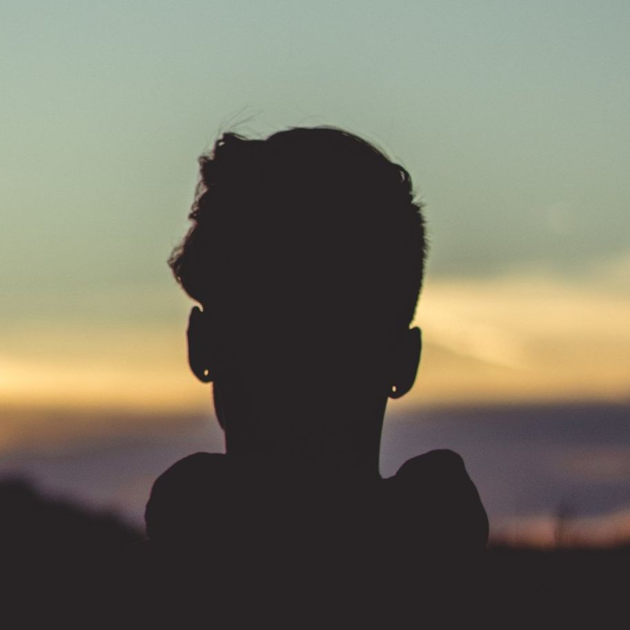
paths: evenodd
<path fill-rule="evenodd" d="M 85 433 L 42 408 L 208 407 L 166 259 L 225 130 L 340 126 L 411 173 L 398 408 L 628 404 L 629 27 L 613 0 L 4 0 L 0 451 Z"/>

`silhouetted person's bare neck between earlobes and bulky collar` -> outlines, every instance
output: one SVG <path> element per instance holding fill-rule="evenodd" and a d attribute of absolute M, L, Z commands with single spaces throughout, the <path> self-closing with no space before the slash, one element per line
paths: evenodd
<path fill-rule="evenodd" d="M 226 435 L 226 453 L 275 462 L 288 473 L 330 471 L 346 477 L 377 479 L 380 440 L 387 399 L 375 391 L 328 388 L 215 386 L 215 408 Z M 307 401 L 306 403 L 304 401 Z"/>

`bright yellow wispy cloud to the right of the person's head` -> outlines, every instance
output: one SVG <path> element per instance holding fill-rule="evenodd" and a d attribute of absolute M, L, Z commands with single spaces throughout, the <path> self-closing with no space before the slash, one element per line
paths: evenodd
<path fill-rule="evenodd" d="M 408 402 L 627 400 L 630 295 L 588 275 L 429 282 Z M 404 400 L 404 399 L 403 399 Z"/>

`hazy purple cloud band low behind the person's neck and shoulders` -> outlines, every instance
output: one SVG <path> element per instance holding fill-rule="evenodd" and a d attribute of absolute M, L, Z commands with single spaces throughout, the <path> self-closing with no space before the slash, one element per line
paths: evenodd
<path fill-rule="evenodd" d="M 58 415 L 51 413 L 49 422 L 59 422 Z M 16 444 L 0 456 L 0 473 L 32 480 L 48 496 L 113 511 L 141 526 L 157 475 L 190 453 L 223 450 L 222 433 L 210 413 L 141 420 L 112 415 L 101 435 L 86 422 L 85 435 L 79 431 L 66 444 Z M 101 418 L 98 426 L 106 421 Z M 46 422 L 45 414 L 40 422 Z M 558 535 L 567 544 L 630 540 L 628 405 L 393 411 L 385 422 L 382 475 L 435 448 L 464 457 L 495 542 L 549 545 Z"/>

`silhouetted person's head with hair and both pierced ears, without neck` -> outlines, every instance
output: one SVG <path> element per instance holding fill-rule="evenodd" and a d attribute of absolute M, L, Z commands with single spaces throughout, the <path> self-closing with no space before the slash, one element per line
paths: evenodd
<path fill-rule="evenodd" d="M 335 404 L 377 394 L 384 405 L 405 393 L 426 251 L 406 170 L 335 128 L 227 133 L 200 165 L 193 226 L 169 263 L 203 307 L 190 365 L 215 398 L 240 389 L 251 408 L 333 392 Z"/>

